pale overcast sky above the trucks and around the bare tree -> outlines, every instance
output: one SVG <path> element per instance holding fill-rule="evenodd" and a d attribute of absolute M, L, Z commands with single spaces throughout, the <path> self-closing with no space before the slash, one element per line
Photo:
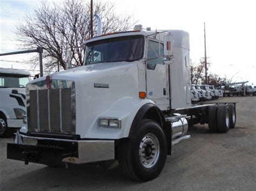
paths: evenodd
<path fill-rule="evenodd" d="M 60 1 L 60 0 L 59 0 Z M 105 0 L 104 0 L 105 1 Z M 0 52 L 15 51 L 15 25 L 31 12 L 39 1 L 0 0 Z M 190 57 L 198 62 L 204 56 L 204 22 L 206 23 L 207 57 L 209 72 L 233 77 L 233 81 L 256 84 L 255 1 L 179 0 L 179 1 L 118 1 L 110 0 L 120 14 L 130 14 L 144 28 L 180 29 L 190 33 Z M 0 67 L 26 68 L 25 55 L 1 56 Z"/>

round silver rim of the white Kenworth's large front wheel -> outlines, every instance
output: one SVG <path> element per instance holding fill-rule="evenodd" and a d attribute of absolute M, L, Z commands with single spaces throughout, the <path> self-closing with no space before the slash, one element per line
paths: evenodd
<path fill-rule="evenodd" d="M 159 158 L 160 146 L 158 138 L 152 133 L 143 137 L 139 145 L 139 159 L 146 168 L 154 166 Z"/>

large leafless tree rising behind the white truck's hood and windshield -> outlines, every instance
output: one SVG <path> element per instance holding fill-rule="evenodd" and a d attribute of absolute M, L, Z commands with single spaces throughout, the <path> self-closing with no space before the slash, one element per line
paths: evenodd
<path fill-rule="evenodd" d="M 103 33 L 123 31 L 132 26 L 131 16 L 117 15 L 111 3 L 95 2 L 95 14 L 102 17 Z M 96 31 L 97 22 L 93 18 L 93 36 Z M 23 48 L 44 48 L 45 69 L 52 70 L 59 66 L 66 69 L 66 48 L 71 49 L 72 64 L 82 66 L 82 45 L 90 37 L 90 2 L 65 0 L 49 4 L 44 1 L 17 26 L 17 36 Z M 36 59 L 34 61 L 37 63 Z"/>

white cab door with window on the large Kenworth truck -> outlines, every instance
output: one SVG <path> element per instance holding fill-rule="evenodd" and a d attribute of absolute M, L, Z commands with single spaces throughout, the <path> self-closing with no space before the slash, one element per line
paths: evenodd
<path fill-rule="evenodd" d="M 161 110 L 169 109 L 168 70 L 164 64 L 164 45 L 147 41 L 146 91 L 147 98 Z"/>

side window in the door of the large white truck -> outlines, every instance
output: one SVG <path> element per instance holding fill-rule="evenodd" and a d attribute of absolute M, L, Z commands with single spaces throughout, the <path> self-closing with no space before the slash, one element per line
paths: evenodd
<path fill-rule="evenodd" d="M 156 68 L 157 64 L 164 64 L 164 45 L 149 40 L 149 45 L 147 46 L 147 58 L 152 60 L 147 60 L 147 69 Z"/>

